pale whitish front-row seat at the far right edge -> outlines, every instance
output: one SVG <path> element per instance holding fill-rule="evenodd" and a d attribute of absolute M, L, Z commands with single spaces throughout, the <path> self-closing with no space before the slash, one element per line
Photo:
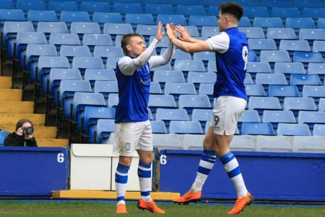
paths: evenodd
<path fill-rule="evenodd" d="M 294 136 L 293 152 L 325 153 L 324 138 L 322 136 Z"/>

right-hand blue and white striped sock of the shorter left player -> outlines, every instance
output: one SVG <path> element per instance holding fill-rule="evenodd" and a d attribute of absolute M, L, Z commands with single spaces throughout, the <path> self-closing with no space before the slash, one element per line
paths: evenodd
<path fill-rule="evenodd" d="M 151 162 L 143 163 L 139 161 L 138 176 L 140 182 L 141 198 L 146 202 L 150 202 L 151 201 L 151 196 L 150 196 Z"/>

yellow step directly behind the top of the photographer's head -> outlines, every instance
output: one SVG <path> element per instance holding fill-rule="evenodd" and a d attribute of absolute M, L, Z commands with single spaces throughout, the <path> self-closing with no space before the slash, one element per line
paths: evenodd
<path fill-rule="evenodd" d="M 6 114 L 0 113 L 1 125 L 15 125 L 19 119 L 28 119 L 34 126 L 44 126 L 45 114 Z"/>

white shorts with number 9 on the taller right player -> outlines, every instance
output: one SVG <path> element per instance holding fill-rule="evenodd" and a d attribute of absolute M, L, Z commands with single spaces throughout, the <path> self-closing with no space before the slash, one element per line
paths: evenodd
<path fill-rule="evenodd" d="M 210 126 L 216 135 L 234 135 L 237 122 L 243 114 L 247 101 L 232 96 L 218 97 L 213 108 Z"/>

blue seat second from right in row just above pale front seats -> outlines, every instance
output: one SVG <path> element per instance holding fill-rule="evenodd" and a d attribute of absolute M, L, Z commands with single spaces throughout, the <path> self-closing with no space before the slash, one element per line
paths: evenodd
<path fill-rule="evenodd" d="M 308 125 L 299 123 L 279 123 L 278 136 L 310 136 Z"/>

